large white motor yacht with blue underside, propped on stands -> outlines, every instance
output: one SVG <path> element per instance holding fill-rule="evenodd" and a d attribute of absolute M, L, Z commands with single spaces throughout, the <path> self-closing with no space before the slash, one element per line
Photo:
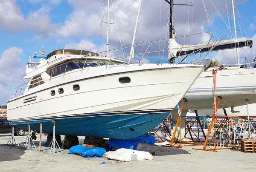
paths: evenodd
<path fill-rule="evenodd" d="M 142 64 L 147 50 L 132 64 L 115 57 L 116 49 L 41 55 L 45 58 L 38 63 L 27 64 L 24 79 L 29 82 L 7 102 L 10 124 L 39 131 L 42 123 L 43 131 L 52 133 L 54 121 L 56 134 L 101 138 L 147 133 L 169 115 L 205 67 Z"/>

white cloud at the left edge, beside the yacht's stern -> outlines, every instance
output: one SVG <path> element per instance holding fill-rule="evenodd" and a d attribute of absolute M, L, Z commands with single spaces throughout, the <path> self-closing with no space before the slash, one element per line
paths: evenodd
<path fill-rule="evenodd" d="M 26 73 L 25 67 L 20 63 L 22 49 L 10 47 L 3 51 L 0 57 L 0 104 L 15 94 L 15 86 L 23 83 L 23 76 Z"/>

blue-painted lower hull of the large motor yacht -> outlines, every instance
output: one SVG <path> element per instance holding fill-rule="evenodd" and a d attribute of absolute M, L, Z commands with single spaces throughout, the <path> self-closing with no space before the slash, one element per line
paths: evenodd
<path fill-rule="evenodd" d="M 55 134 L 79 135 L 99 138 L 127 139 L 135 138 L 154 129 L 170 112 L 137 113 L 119 115 L 79 115 L 70 118 L 37 119 L 30 121 L 10 121 L 10 125 L 40 131 L 43 124 L 44 133 L 52 133 L 52 120 L 55 121 Z"/>

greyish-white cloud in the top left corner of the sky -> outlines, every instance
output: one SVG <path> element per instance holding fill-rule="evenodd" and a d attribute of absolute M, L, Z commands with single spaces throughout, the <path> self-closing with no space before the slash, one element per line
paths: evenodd
<path fill-rule="evenodd" d="M 51 37 L 58 24 L 52 24 L 49 11 L 53 8 L 50 5 L 42 5 L 37 11 L 29 13 L 28 17 L 23 17 L 16 0 L 0 0 L 0 29 L 8 32 L 22 32 L 26 29 L 34 30 L 42 38 Z"/>

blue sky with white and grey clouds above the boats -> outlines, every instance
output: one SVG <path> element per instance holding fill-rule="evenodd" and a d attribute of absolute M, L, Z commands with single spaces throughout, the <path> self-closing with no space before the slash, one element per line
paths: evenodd
<path fill-rule="evenodd" d="M 177 1 L 177 2 L 175 2 Z M 174 7 L 176 37 L 212 32 L 212 41 L 226 35 L 234 38 L 231 0 L 174 0 L 193 6 Z M 256 0 L 235 0 L 237 37 L 256 41 Z M 110 0 L 110 49 L 130 46 L 139 0 Z M 55 49 L 106 50 L 105 0 L 0 0 L 0 104 L 14 97 L 25 83 L 29 54 Z M 143 0 L 135 44 L 167 38 L 169 5 L 165 0 Z M 121 40 L 121 43 L 120 43 Z M 209 34 L 189 38 L 186 43 L 206 43 Z M 242 49 L 252 61 L 256 49 Z M 136 49 L 135 49 L 136 53 Z M 211 52 L 221 63 L 234 63 L 234 50 Z M 151 63 L 159 62 L 148 57 Z M 161 61 L 161 60 L 160 60 Z M 167 62 L 167 58 L 163 60 Z"/>

